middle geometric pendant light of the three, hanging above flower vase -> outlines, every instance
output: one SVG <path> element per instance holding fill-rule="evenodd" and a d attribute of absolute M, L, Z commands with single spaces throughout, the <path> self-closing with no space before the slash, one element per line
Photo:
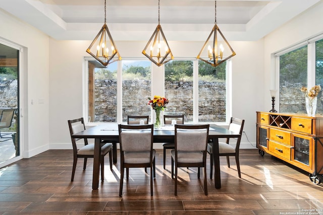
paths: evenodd
<path fill-rule="evenodd" d="M 174 59 L 173 53 L 159 24 L 160 4 L 158 0 L 158 25 L 142 53 L 157 66 Z"/>

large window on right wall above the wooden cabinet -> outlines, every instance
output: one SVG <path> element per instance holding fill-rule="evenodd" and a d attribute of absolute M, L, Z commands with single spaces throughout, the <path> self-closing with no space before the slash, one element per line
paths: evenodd
<path fill-rule="evenodd" d="M 323 89 L 323 39 L 309 39 L 303 46 L 290 48 L 277 56 L 280 112 L 306 113 L 305 97 L 300 89 L 314 85 Z M 316 114 L 323 114 L 322 91 L 317 96 Z"/>

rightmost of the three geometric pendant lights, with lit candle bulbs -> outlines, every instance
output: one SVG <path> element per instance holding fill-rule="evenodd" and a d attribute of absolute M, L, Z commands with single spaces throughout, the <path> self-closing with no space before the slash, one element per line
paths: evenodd
<path fill-rule="evenodd" d="M 206 46 L 207 49 L 205 48 Z M 215 67 L 234 55 L 236 55 L 236 52 L 233 51 L 231 45 L 217 25 L 217 1 L 215 1 L 214 26 L 196 58 Z M 204 59 L 202 57 L 204 57 Z"/>

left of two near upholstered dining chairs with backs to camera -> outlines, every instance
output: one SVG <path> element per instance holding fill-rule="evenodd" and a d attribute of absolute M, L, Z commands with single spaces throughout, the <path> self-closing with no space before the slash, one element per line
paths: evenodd
<path fill-rule="evenodd" d="M 150 168 L 150 195 L 153 195 L 152 180 L 155 177 L 155 155 L 153 145 L 153 125 L 119 124 L 120 142 L 120 190 L 122 196 L 124 168 L 129 179 L 129 168 Z"/>

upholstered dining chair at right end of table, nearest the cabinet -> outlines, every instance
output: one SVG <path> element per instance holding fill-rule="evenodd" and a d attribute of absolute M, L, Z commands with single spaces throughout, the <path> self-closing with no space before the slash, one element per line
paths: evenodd
<path fill-rule="evenodd" d="M 219 156 L 226 156 L 227 157 L 227 163 L 228 167 L 230 168 L 230 159 L 229 156 L 234 156 L 236 159 L 237 164 L 237 170 L 239 178 L 241 178 L 241 172 L 240 172 L 240 163 L 239 163 L 239 147 L 240 147 L 240 140 L 241 135 L 243 132 L 243 125 L 244 125 L 244 119 L 238 119 L 231 117 L 230 124 L 229 124 L 229 130 L 240 133 L 240 137 L 238 138 L 231 138 L 235 139 L 236 146 L 229 145 L 230 138 L 227 138 L 226 142 L 219 142 Z M 212 179 L 213 174 L 213 155 L 212 155 L 212 146 L 210 144 L 207 145 L 207 153 L 210 155 L 210 179 Z"/>

